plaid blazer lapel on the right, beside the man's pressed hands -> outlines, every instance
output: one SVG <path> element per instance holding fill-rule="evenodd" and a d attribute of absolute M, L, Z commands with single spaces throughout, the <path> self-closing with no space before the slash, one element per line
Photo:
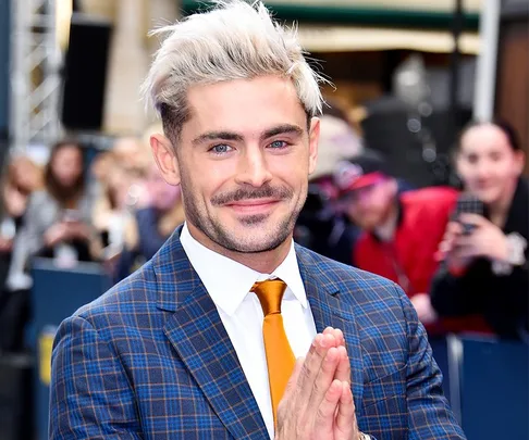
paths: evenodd
<path fill-rule="evenodd" d="M 345 338 L 347 354 L 350 360 L 350 380 L 356 407 L 360 407 L 364 392 L 364 363 L 360 339 L 356 328 L 355 312 L 352 301 L 341 300 L 342 296 L 354 292 L 342 289 L 340 279 L 332 277 L 330 268 L 324 271 L 324 261 L 315 261 L 305 249 L 296 247 L 299 271 L 315 318 L 316 329 L 322 332 L 325 327 L 340 328 Z"/>

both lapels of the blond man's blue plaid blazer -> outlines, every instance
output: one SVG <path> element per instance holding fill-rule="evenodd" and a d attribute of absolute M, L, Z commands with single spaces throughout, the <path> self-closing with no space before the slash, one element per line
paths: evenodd
<path fill-rule="evenodd" d="M 157 306 L 174 312 L 164 332 L 226 429 L 237 439 L 268 439 L 264 422 L 217 307 L 182 248 L 181 230 L 182 227 L 174 231 L 152 260 Z M 344 286 L 333 267 L 336 263 L 299 246 L 296 254 L 317 331 L 332 326 L 344 332 L 353 395 L 355 405 L 360 407 L 364 365 L 354 290 Z"/>

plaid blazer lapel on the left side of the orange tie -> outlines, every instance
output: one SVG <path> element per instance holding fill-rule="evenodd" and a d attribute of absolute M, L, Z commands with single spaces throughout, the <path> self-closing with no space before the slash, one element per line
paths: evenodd
<path fill-rule="evenodd" d="M 269 439 L 235 349 L 179 237 L 180 229 L 155 257 L 158 306 L 174 312 L 164 332 L 231 435 Z"/>

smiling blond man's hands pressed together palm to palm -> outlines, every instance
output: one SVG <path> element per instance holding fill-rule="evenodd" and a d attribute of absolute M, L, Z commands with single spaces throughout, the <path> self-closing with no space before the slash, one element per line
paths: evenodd
<path fill-rule="evenodd" d="M 316 336 L 278 408 L 275 440 L 356 440 L 350 366 L 340 330 Z"/>

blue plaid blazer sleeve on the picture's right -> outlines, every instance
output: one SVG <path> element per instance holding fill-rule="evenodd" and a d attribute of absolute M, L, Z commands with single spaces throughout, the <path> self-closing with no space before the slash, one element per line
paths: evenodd
<path fill-rule="evenodd" d="M 408 363 L 406 395 L 409 440 L 466 439 L 441 388 L 443 376 L 433 360 L 427 332 L 414 306 L 399 290 L 406 318 Z"/>

